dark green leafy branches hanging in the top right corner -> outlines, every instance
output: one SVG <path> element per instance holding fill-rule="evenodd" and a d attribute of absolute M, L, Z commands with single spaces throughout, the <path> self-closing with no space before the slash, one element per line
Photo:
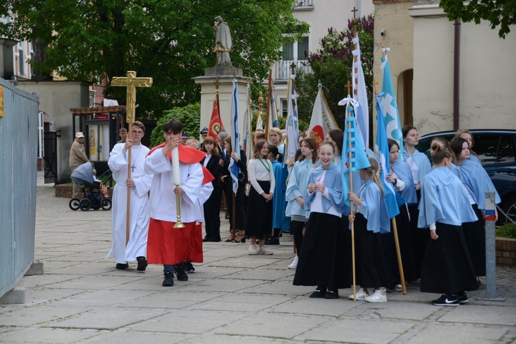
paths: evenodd
<path fill-rule="evenodd" d="M 460 19 L 464 23 L 480 21 L 491 23 L 491 29 L 499 27 L 498 36 L 505 39 L 510 32 L 510 25 L 516 24 L 516 1 L 496 0 L 441 0 L 439 6 L 446 12 L 450 21 Z"/>

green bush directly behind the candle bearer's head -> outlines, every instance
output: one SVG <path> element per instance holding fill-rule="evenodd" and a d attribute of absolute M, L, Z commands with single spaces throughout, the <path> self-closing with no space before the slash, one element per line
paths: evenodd
<path fill-rule="evenodd" d="M 171 118 L 180 120 L 183 124 L 183 131 L 187 131 L 190 134 L 193 133 L 193 136 L 197 137 L 201 124 L 201 105 L 199 103 L 195 103 L 192 105 L 186 105 L 186 107 L 174 107 L 171 110 L 164 111 L 163 116 L 158 120 L 156 127 L 151 133 L 151 147 L 164 142 L 163 125 Z"/>

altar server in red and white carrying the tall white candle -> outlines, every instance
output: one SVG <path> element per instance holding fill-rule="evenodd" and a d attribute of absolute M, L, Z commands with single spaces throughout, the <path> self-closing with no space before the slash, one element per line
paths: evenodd
<path fill-rule="evenodd" d="M 213 180 L 199 162 L 206 155 L 180 144 L 182 123 L 167 120 L 163 126 L 165 141 L 154 147 L 145 159 L 145 171 L 154 175 L 150 195 L 149 264 L 163 264 L 163 286 L 173 286 L 174 268 L 178 277 L 184 276 L 184 261 L 202 263 L 202 233 L 195 230 L 202 222 L 202 184 Z M 175 186 L 171 151 L 179 147 L 181 184 Z M 173 228 L 177 222 L 176 196 L 180 197 L 181 222 L 184 228 Z"/>

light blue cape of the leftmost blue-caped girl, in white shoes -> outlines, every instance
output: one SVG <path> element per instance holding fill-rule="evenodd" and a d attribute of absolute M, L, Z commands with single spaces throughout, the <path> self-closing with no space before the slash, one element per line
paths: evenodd
<path fill-rule="evenodd" d="M 303 197 L 305 190 L 308 189 L 308 175 L 312 170 L 314 164 L 312 160 L 304 159 L 302 161 L 295 162 L 290 171 L 287 191 L 285 199 L 287 200 L 287 208 L 285 215 L 290 217 L 291 215 L 300 215 L 308 219 L 308 211 L 299 205 L 296 197 Z"/>

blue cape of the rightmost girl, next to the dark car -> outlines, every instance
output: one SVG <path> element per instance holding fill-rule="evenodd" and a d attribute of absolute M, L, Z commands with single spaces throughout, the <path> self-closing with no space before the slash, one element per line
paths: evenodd
<path fill-rule="evenodd" d="M 486 191 L 488 190 L 495 191 L 496 204 L 502 202 L 493 182 L 491 182 L 491 178 L 489 178 L 481 164 L 467 159 L 459 165 L 458 169 L 460 171 L 460 180 L 468 189 L 479 209 L 484 210 L 486 208 Z"/>

